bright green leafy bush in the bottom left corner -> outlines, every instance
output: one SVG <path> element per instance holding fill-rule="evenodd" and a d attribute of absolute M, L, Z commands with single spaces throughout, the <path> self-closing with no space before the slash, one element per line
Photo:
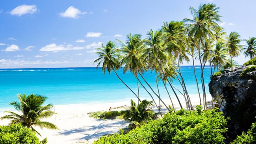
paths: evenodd
<path fill-rule="evenodd" d="M 44 139 L 39 143 L 35 132 L 31 129 L 13 124 L 10 126 L 0 126 L 0 144 L 46 144 Z"/>

